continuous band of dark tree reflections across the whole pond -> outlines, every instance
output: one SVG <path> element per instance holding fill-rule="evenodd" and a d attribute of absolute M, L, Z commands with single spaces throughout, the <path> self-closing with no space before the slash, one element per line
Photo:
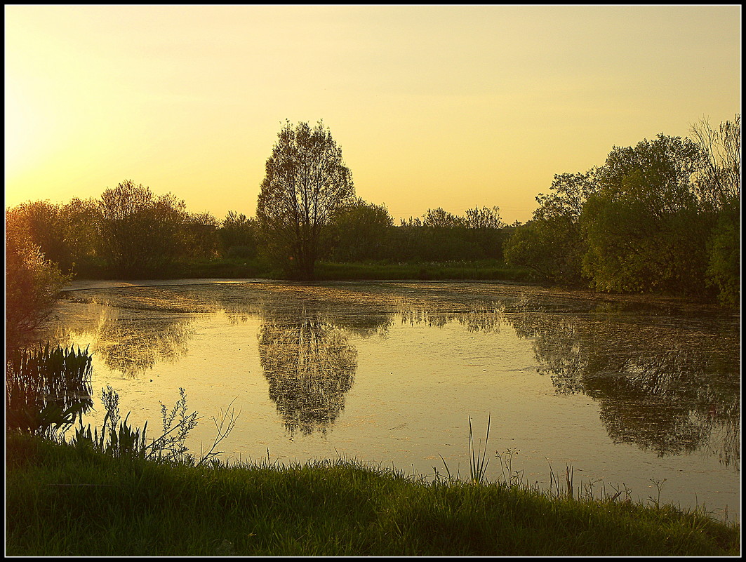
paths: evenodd
<path fill-rule="evenodd" d="M 260 365 L 289 434 L 325 433 L 354 384 L 354 338 L 385 338 L 405 324 L 509 327 L 532 342 L 558 394 L 601 406 L 612 441 L 659 456 L 703 450 L 739 469 L 739 328 L 687 316 L 677 303 L 627 302 L 580 291 L 470 284 L 244 284 L 95 291 L 69 333 L 90 332 L 96 361 L 139 376 L 188 352 L 195 312 L 233 323 L 260 318 Z M 81 303 L 79 298 L 78 303 Z M 93 316 L 93 322 L 90 317 Z"/>

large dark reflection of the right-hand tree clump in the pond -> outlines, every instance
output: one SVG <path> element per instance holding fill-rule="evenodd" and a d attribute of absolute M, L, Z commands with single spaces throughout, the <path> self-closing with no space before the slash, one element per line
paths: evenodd
<path fill-rule="evenodd" d="M 600 403 L 616 443 L 659 456 L 704 449 L 739 469 L 739 359 L 727 351 L 732 340 L 718 345 L 704 326 L 683 319 L 673 326 L 529 313 L 510 321 L 520 337 L 533 339 L 539 372 L 551 376 L 558 392 L 582 392 Z"/>

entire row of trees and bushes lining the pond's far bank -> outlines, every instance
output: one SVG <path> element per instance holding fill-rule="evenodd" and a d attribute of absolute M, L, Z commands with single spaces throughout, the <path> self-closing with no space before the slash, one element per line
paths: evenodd
<path fill-rule="evenodd" d="M 264 259 L 299 280 L 313 280 L 319 259 L 497 259 L 562 285 L 736 306 L 740 115 L 718 128 L 701 121 L 692 133 L 614 147 L 603 165 L 558 174 L 523 225 L 504 224 L 497 206 L 463 216 L 439 207 L 395 224 L 385 205 L 357 197 L 322 121 L 288 121 L 266 161 L 255 218 L 189 212 L 175 195 L 132 180 L 99 198 L 6 209 L 6 328 L 36 325 L 73 274 L 168 277 L 180 260 L 215 257 Z"/>

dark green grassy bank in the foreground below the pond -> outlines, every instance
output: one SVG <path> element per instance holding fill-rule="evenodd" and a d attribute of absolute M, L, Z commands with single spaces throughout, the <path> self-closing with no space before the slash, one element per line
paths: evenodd
<path fill-rule="evenodd" d="M 700 512 L 347 461 L 207 467 L 7 435 L 7 555 L 739 555 Z"/>

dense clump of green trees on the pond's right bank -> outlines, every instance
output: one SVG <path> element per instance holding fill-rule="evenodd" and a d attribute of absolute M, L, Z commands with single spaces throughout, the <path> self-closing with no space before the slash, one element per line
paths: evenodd
<path fill-rule="evenodd" d="M 741 116 L 692 139 L 614 147 L 603 165 L 558 174 L 504 246 L 510 265 L 598 291 L 740 300 Z"/>

